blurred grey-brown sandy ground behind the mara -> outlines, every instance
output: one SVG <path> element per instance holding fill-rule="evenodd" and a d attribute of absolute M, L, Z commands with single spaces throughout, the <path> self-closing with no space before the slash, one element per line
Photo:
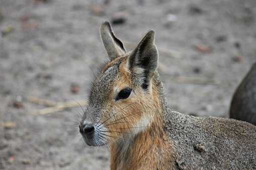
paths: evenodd
<path fill-rule="evenodd" d="M 106 60 L 104 20 L 127 49 L 155 30 L 173 109 L 228 117 L 256 61 L 255 19 L 255 0 L 0 0 L 0 169 L 109 169 L 77 115 Z"/>

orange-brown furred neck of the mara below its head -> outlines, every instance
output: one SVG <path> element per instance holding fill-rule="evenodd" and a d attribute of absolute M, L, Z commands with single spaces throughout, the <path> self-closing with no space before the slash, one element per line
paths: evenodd
<path fill-rule="evenodd" d="M 170 155 L 172 149 L 163 128 L 163 117 L 168 107 L 158 73 L 153 79 L 152 88 L 158 107 L 152 111 L 154 114 L 151 121 L 147 122 L 149 125 L 135 135 L 111 145 L 111 169 L 168 169 L 164 162 L 172 161 L 172 158 L 165 154 Z"/>

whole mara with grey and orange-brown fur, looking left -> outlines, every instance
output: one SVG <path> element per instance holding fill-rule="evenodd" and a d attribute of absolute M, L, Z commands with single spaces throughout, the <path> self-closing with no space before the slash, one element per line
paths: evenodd
<path fill-rule="evenodd" d="M 256 126 L 168 108 L 154 31 L 130 53 L 108 22 L 101 37 L 110 61 L 93 80 L 79 128 L 87 144 L 110 147 L 112 170 L 256 168 Z M 127 88 L 129 95 L 118 98 Z M 85 134 L 81 126 L 89 123 L 94 131 Z"/>

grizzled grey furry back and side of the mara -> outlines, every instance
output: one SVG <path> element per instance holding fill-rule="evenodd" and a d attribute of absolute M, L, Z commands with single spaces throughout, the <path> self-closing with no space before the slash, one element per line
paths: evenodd
<path fill-rule="evenodd" d="M 256 169 L 256 126 L 235 119 L 196 117 L 168 108 L 160 77 L 164 131 L 177 169 Z"/>

